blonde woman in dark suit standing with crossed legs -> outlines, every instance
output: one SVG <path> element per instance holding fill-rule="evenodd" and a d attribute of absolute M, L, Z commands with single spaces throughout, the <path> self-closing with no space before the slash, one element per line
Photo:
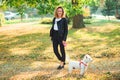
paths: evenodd
<path fill-rule="evenodd" d="M 53 42 L 53 50 L 58 58 L 61 61 L 58 66 L 58 70 L 64 68 L 65 65 L 65 46 L 66 39 L 68 34 L 68 24 L 67 19 L 65 18 L 65 12 L 62 7 L 57 7 L 54 13 L 54 19 L 52 22 L 52 28 L 50 30 L 50 37 Z M 58 51 L 58 45 L 60 46 L 60 53 Z"/>

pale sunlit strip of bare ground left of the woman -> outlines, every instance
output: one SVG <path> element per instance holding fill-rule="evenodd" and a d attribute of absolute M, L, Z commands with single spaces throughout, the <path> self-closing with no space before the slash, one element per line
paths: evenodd
<path fill-rule="evenodd" d="M 37 26 L 36 26 L 37 24 Z M 39 26 L 38 22 L 30 22 L 30 23 L 17 23 L 17 24 L 9 24 L 3 27 L 0 27 L 0 35 L 7 35 L 9 37 L 20 36 L 24 34 L 32 34 L 32 33 L 48 33 L 47 27 Z"/>

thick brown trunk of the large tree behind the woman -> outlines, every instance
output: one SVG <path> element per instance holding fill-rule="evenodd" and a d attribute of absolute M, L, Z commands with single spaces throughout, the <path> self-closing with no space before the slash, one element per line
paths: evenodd
<path fill-rule="evenodd" d="M 73 26 L 72 28 L 84 28 L 83 15 L 75 15 L 73 17 Z"/>

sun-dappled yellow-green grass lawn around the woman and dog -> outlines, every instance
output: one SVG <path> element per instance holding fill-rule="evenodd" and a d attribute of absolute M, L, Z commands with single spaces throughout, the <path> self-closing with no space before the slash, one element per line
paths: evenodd
<path fill-rule="evenodd" d="M 73 60 L 90 54 L 94 61 L 83 78 L 68 74 L 68 64 L 57 71 L 49 37 L 51 25 L 19 23 L 0 28 L 0 80 L 119 80 L 120 24 L 93 21 L 83 29 L 69 25 L 66 53 Z"/>

